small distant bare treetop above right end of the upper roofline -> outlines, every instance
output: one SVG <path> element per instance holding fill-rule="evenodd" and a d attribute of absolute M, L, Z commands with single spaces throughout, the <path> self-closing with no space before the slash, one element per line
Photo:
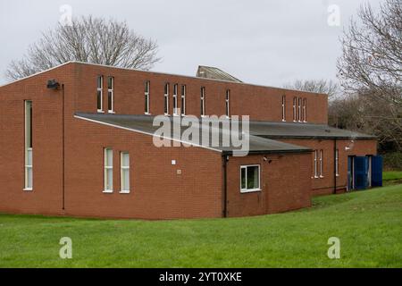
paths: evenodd
<path fill-rule="evenodd" d="M 333 80 L 295 80 L 292 83 L 285 84 L 283 87 L 322 93 L 330 98 L 339 95 L 339 85 Z"/>

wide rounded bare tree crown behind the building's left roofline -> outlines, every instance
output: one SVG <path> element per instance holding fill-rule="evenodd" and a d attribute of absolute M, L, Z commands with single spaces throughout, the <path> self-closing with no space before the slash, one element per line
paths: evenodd
<path fill-rule="evenodd" d="M 82 17 L 43 33 L 5 75 L 17 80 L 69 61 L 149 70 L 160 61 L 157 49 L 154 40 L 138 36 L 126 22 Z"/>

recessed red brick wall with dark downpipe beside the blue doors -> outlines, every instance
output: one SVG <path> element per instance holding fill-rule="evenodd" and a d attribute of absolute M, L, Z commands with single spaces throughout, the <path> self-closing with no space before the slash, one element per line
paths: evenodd
<path fill-rule="evenodd" d="M 314 153 L 309 163 L 312 166 L 310 178 L 312 180 L 313 194 L 326 195 L 334 190 L 334 140 L 312 140 L 312 139 L 281 139 L 283 142 L 310 147 L 313 150 L 323 150 L 323 178 L 314 178 Z M 346 150 L 349 147 L 349 150 Z M 377 155 L 376 140 L 337 140 L 339 149 L 339 177 L 337 177 L 337 189 L 343 192 L 348 185 L 348 156 Z"/>

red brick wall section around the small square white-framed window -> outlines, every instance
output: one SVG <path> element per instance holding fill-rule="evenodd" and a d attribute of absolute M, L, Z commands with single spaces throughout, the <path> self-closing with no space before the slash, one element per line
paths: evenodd
<path fill-rule="evenodd" d="M 230 157 L 228 216 L 281 213 L 311 206 L 310 154 Z M 271 163 L 270 163 L 271 162 Z M 259 164 L 262 190 L 240 192 L 240 166 Z"/>

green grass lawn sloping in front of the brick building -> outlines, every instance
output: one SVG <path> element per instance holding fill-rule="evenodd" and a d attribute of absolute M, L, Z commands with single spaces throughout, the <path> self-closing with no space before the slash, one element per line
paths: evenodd
<path fill-rule="evenodd" d="M 59 258 L 72 239 L 73 257 Z M 327 257 L 338 237 L 341 258 Z M 402 267 L 402 185 L 309 209 L 169 222 L 0 215 L 0 267 Z"/>

